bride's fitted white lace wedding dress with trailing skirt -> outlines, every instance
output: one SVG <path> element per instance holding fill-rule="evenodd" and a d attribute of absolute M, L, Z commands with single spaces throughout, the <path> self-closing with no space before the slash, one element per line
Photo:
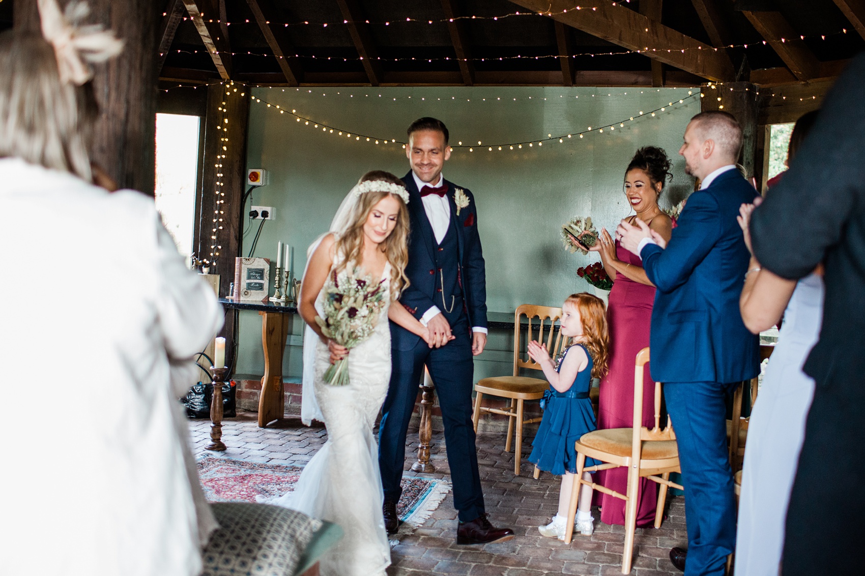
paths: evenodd
<path fill-rule="evenodd" d="M 382 280 L 390 303 L 390 264 L 385 265 Z M 321 300 L 319 293 L 319 314 Z M 388 306 L 381 311 L 373 335 L 349 353 L 349 385 L 325 383 L 328 366 L 327 346 L 317 340 L 314 389 L 327 442 L 306 464 L 294 492 L 269 503 L 343 528 L 343 539 L 321 560 L 322 576 L 384 576 L 390 547 L 381 514 L 384 496 L 373 426 L 390 381 Z"/>

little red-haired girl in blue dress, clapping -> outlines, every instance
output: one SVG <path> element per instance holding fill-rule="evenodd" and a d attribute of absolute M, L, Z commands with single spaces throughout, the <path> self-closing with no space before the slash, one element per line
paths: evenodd
<path fill-rule="evenodd" d="M 606 310 L 600 298 L 581 292 L 568 296 L 561 306 L 561 336 L 572 338 L 572 344 L 554 363 L 547 348 L 536 341 L 529 342 L 529 356 L 541 364 L 549 381 L 544 393 L 543 419 L 538 428 L 529 462 L 541 470 L 556 476 L 561 475 L 559 510 L 553 522 L 538 528 L 550 538 L 565 539 L 567 504 L 577 471 L 577 454 L 574 443 L 586 432 L 592 432 L 597 424 L 589 400 L 589 388 L 593 378 L 606 373 L 609 358 L 609 336 L 606 328 Z M 586 458 L 586 467 L 600 464 Z M 583 473 L 590 480 L 589 472 Z M 592 488 L 582 486 L 574 531 L 590 535 L 593 532 Z"/>

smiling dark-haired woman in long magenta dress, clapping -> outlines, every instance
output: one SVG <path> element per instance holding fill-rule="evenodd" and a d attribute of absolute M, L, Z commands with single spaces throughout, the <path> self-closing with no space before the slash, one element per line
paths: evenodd
<path fill-rule="evenodd" d="M 670 240 L 672 221 L 658 207 L 664 183 L 670 174 L 670 158 L 655 146 L 646 146 L 637 153 L 625 170 L 625 197 L 637 213 L 628 218 L 631 223 L 639 218 Z M 649 345 L 651 308 L 655 302 L 655 286 L 643 271 L 638 256 L 618 246 L 605 228 L 599 242 L 591 248 L 599 252 L 607 275 L 613 278 L 607 324 L 610 327 L 610 370 L 600 385 L 598 429 L 630 428 L 633 426 L 634 361 L 637 353 Z M 654 426 L 655 383 L 649 370 L 645 371 L 643 394 L 643 425 Z M 628 470 L 616 468 L 598 473 L 598 483 L 620 494 L 627 491 Z M 640 498 L 637 526 L 650 526 L 655 522 L 657 483 L 640 480 Z M 625 524 L 625 501 L 601 492 L 600 519 L 606 524 Z"/>

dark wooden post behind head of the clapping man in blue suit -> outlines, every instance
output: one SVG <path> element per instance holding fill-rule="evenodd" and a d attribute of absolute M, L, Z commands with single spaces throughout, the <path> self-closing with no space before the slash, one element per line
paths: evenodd
<path fill-rule="evenodd" d="M 759 117 L 759 86 L 751 82 L 727 82 L 714 88 L 703 88 L 702 111 L 730 112 L 742 127 L 742 154 L 740 163 L 748 178 L 754 175 L 757 155 Z"/>

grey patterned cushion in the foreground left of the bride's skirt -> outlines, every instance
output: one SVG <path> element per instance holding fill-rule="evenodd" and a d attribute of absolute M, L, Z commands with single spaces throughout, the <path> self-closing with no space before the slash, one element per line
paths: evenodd
<path fill-rule="evenodd" d="M 268 504 L 215 502 L 221 528 L 202 552 L 202 576 L 291 576 L 322 527 L 307 515 Z"/>

